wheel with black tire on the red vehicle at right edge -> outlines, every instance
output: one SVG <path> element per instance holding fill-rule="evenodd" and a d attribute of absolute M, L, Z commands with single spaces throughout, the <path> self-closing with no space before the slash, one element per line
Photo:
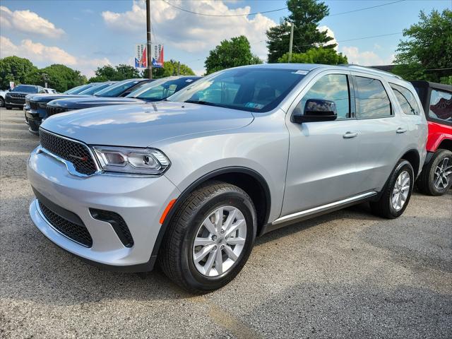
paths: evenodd
<path fill-rule="evenodd" d="M 448 159 L 448 160 L 446 160 Z M 446 164 L 447 162 L 447 164 Z M 452 152 L 450 150 L 436 150 L 430 161 L 424 165 L 422 172 L 417 179 L 417 188 L 421 193 L 429 196 L 442 196 L 451 188 L 452 174 L 441 178 L 441 183 L 436 182 L 438 171 L 442 172 L 441 167 L 446 167 L 446 173 L 452 171 Z M 448 167 L 448 169 L 447 169 Z M 444 184 L 446 182 L 446 184 Z"/>

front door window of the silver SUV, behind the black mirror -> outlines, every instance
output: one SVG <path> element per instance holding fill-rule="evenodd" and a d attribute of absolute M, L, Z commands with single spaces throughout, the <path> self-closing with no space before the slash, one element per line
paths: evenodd
<path fill-rule="evenodd" d="M 338 119 L 350 118 L 350 94 L 345 74 L 322 76 L 304 95 L 295 110 L 304 112 L 304 105 L 309 99 L 334 101 L 338 109 Z"/>

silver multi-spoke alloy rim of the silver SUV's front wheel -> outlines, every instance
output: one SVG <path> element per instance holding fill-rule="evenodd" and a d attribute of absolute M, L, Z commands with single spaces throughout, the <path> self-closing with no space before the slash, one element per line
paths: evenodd
<path fill-rule="evenodd" d="M 203 221 L 193 244 L 193 261 L 202 275 L 215 277 L 230 270 L 246 242 L 243 213 L 232 206 L 216 208 Z"/>

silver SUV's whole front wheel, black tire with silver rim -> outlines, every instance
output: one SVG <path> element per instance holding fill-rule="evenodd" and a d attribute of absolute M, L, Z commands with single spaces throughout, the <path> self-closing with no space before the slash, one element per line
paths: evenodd
<path fill-rule="evenodd" d="M 227 212 L 228 208 L 236 210 L 234 215 L 242 213 L 240 217 L 232 220 L 230 224 L 232 227 L 237 225 L 241 225 L 241 227 L 237 227 L 237 231 L 231 233 L 235 235 L 229 239 L 227 228 L 225 233 L 215 233 L 218 236 L 213 239 L 213 232 L 209 232 L 203 226 L 206 220 L 213 220 L 212 222 L 215 223 L 217 217 L 213 212 L 220 208 L 225 210 L 222 215 L 222 226 L 227 224 L 227 217 L 230 216 Z M 209 219 L 209 217 L 215 217 L 215 219 Z M 246 225 L 243 222 L 246 222 Z M 169 222 L 158 256 L 160 267 L 169 279 L 189 292 L 203 294 L 218 290 L 227 285 L 242 270 L 251 253 L 256 228 L 256 209 L 245 191 L 225 182 L 206 182 L 186 197 Z M 240 232 L 245 234 L 245 231 L 244 238 L 237 235 Z M 200 237 L 208 239 L 206 240 L 208 242 L 213 239 L 212 243 L 195 246 L 195 238 Z M 242 244 L 229 245 L 229 242 L 226 243 L 226 239 L 234 241 L 234 237 L 237 237 L 236 241 L 240 241 Z M 233 261 L 232 256 L 227 254 L 227 249 L 223 249 L 222 246 L 228 246 L 228 250 L 237 253 L 239 251 L 233 263 L 230 262 Z M 215 251 L 213 247 L 216 247 Z M 217 261 L 218 252 L 220 253 L 219 261 Z M 195 258 L 196 256 L 201 257 L 201 253 L 208 254 L 196 263 Z M 211 256 L 214 257 L 213 260 L 210 260 Z M 217 262 L 221 264 L 217 265 Z M 227 268 L 228 265 L 230 265 L 229 268 Z M 223 267 L 226 268 L 224 271 Z M 206 270 L 206 272 L 202 273 L 201 270 Z"/>

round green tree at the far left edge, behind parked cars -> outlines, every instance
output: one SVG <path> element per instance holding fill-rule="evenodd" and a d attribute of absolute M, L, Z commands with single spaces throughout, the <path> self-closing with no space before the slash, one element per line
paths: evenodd
<path fill-rule="evenodd" d="M 10 81 L 27 83 L 27 76 L 34 72 L 37 67 L 28 59 L 16 56 L 0 59 L 0 88 L 9 88 Z"/>

